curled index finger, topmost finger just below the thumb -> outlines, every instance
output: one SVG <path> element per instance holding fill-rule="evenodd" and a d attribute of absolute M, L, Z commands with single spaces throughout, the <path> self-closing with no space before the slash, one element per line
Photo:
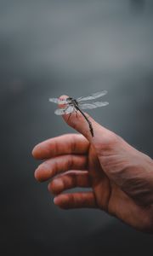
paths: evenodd
<path fill-rule="evenodd" d="M 87 154 L 88 140 L 80 134 L 65 134 L 37 144 L 32 155 L 38 160 L 48 159 L 60 154 Z"/>

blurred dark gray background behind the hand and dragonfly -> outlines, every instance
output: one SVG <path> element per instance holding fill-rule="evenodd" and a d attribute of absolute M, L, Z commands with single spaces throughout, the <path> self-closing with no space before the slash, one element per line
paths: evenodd
<path fill-rule="evenodd" d="M 99 210 L 54 206 L 36 143 L 72 131 L 49 97 L 108 90 L 94 119 L 153 156 L 153 1 L 0 0 L 1 255 L 153 255 Z"/>

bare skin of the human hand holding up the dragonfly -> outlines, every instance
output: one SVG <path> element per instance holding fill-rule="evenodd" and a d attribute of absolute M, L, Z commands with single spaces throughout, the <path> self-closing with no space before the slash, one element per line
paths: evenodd
<path fill-rule="evenodd" d="M 32 150 L 34 158 L 43 160 L 35 177 L 49 181 L 54 204 L 99 208 L 136 230 L 153 233 L 153 160 L 89 116 L 94 137 L 80 113 L 63 118 L 81 134 L 54 137 Z M 62 193 L 76 187 L 90 190 Z"/>

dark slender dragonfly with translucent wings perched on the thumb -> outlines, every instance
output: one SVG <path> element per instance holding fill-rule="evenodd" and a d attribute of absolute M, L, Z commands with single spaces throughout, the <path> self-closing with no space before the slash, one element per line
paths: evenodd
<path fill-rule="evenodd" d="M 105 96 L 107 94 L 107 90 L 101 90 L 99 92 L 93 93 L 91 96 L 81 96 L 77 99 L 72 97 L 67 97 L 66 99 L 62 100 L 60 98 L 49 98 L 49 102 L 54 102 L 56 104 L 62 104 L 61 108 L 57 108 L 54 113 L 57 115 L 62 114 L 70 114 L 73 112 L 80 112 L 84 119 L 88 122 L 89 130 L 91 132 L 92 137 L 94 137 L 94 129 L 91 121 L 88 119 L 85 113 L 82 112 L 82 109 L 93 109 L 93 108 L 100 108 L 105 107 L 109 104 L 109 102 L 102 102 L 102 101 L 95 101 L 95 99 Z M 89 102 L 87 102 L 89 101 Z M 92 101 L 92 102 L 90 102 Z M 69 118 L 70 118 L 69 116 Z"/>

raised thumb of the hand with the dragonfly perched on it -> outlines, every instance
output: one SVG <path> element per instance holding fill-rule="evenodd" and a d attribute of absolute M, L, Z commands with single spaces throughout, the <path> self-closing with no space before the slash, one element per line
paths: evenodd
<path fill-rule="evenodd" d="M 65 100 L 67 96 L 60 96 L 60 100 Z M 61 104 L 59 108 L 61 108 Z M 92 119 L 88 113 L 84 113 L 79 110 L 76 112 L 63 114 L 63 119 L 72 128 L 82 133 L 84 137 L 88 139 L 90 143 L 107 143 L 109 135 L 112 133 L 104 126 L 99 125 L 94 119 Z"/>

